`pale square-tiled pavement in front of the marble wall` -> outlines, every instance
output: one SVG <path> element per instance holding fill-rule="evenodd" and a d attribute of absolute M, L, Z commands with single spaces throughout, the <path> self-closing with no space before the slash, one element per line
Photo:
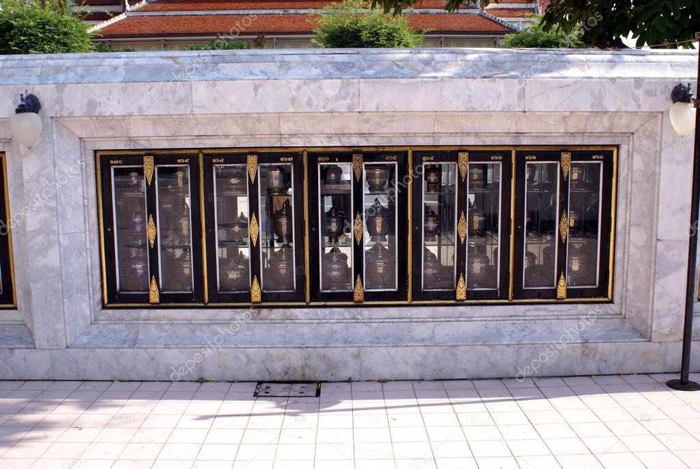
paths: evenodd
<path fill-rule="evenodd" d="M 669 377 L 0 381 L 0 468 L 700 468 L 700 393 Z"/>

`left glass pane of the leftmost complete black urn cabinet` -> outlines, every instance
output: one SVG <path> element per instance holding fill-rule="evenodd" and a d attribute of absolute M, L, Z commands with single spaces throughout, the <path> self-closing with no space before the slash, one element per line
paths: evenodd
<path fill-rule="evenodd" d="M 117 291 L 148 291 L 146 179 L 144 167 L 112 167 Z"/>

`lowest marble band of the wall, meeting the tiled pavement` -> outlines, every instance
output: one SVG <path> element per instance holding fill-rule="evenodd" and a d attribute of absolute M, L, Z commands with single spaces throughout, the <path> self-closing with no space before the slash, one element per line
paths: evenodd
<path fill-rule="evenodd" d="M 365 381 L 678 372 L 680 367 L 680 342 L 580 343 L 548 353 L 550 346 L 0 349 L 0 377 Z M 698 370 L 700 361 L 694 363 Z"/>

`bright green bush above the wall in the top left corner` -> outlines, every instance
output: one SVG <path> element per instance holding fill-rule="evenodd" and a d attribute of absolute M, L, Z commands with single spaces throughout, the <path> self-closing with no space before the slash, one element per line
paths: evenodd
<path fill-rule="evenodd" d="M 65 0 L 1 0 L 0 54 L 92 52 L 82 10 Z"/>

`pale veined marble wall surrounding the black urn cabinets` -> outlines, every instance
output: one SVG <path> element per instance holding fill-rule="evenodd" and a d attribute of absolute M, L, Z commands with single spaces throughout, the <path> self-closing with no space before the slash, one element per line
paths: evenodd
<path fill-rule="evenodd" d="M 668 109 L 673 86 L 695 80 L 697 59 L 488 49 L 0 57 L 0 152 L 10 215 L 21 214 L 18 308 L 0 310 L 0 379 L 677 371 L 692 140 L 675 136 Z M 42 102 L 31 150 L 9 130 L 25 90 Z M 94 151 L 391 145 L 617 146 L 614 301 L 102 308 Z"/>

